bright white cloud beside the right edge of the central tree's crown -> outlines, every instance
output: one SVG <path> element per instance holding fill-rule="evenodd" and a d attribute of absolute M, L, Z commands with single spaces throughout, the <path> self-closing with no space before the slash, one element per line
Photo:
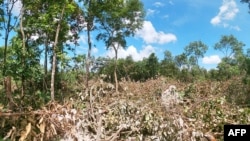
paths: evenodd
<path fill-rule="evenodd" d="M 137 31 L 136 34 L 147 44 L 165 44 L 169 42 L 175 42 L 177 40 L 177 37 L 172 33 L 164 33 L 162 31 L 157 32 L 150 21 L 144 21 L 142 29 Z"/>

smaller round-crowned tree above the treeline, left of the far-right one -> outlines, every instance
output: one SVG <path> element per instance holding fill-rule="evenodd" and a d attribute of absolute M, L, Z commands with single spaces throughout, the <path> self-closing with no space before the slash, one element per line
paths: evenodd
<path fill-rule="evenodd" d="M 199 58 L 204 57 L 207 49 L 207 45 L 201 41 L 194 41 L 185 47 L 185 54 L 192 57 L 192 59 L 195 61 L 195 64 L 198 65 Z"/>

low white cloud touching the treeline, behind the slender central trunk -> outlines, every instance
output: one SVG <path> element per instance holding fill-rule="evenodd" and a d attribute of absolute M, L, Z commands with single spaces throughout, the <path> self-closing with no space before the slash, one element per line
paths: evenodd
<path fill-rule="evenodd" d="M 147 58 L 151 53 L 154 52 L 155 49 L 150 45 L 145 46 L 142 50 L 139 51 L 134 46 L 129 46 L 127 49 L 118 49 L 118 58 L 126 58 L 128 56 L 132 56 L 134 61 L 140 61 L 143 58 Z M 110 58 L 115 57 L 115 51 L 113 49 L 108 50 L 107 56 Z"/>

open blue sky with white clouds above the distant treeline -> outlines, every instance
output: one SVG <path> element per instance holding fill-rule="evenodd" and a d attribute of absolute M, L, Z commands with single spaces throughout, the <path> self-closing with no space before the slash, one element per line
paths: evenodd
<path fill-rule="evenodd" d="M 119 58 L 132 55 L 134 60 L 142 60 L 156 53 L 161 60 L 164 51 L 173 56 L 184 52 L 190 42 L 201 40 L 209 49 L 199 65 L 207 69 L 215 68 L 223 57 L 213 46 L 222 35 L 234 35 L 250 48 L 250 14 L 247 4 L 240 0 L 142 0 L 146 11 L 143 28 L 136 36 L 128 38 L 127 47 L 120 49 Z M 82 45 L 86 38 L 81 36 Z M 105 50 L 100 42 L 93 55 L 113 57 L 112 50 Z M 78 48 L 79 52 L 86 48 Z"/>

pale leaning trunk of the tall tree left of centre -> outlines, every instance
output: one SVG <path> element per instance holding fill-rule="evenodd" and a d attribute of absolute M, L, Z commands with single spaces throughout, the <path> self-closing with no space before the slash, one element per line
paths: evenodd
<path fill-rule="evenodd" d="M 64 15 L 64 10 L 65 10 L 65 4 L 64 4 L 62 12 L 61 12 L 60 20 L 58 21 L 58 24 L 57 24 L 56 37 L 55 37 L 55 42 L 54 42 L 54 45 L 53 45 L 51 84 L 50 84 L 51 85 L 50 86 L 51 101 L 55 100 L 55 72 L 56 72 L 57 44 L 58 44 L 59 32 L 60 32 L 60 29 L 61 29 L 61 21 L 63 19 L 63 15 Z"/>

